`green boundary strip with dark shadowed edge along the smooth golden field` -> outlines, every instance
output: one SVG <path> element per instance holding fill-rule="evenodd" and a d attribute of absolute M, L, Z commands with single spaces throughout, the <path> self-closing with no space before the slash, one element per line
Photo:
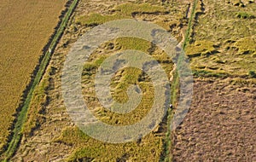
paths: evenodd
<path fill-rule="evenodd" d="M 69 3 L 69 2 L 67 2 Z M 38 84 L 41 81 L 41 78 L 43 78 L 44 72 L 46 68 L 49 65 L 49 61 L 51 58 L 51 55 L 54 52 L 54 49 L 61 39 L 61 36 L 63 32 L 66 29 L 68 20 L 70 19 L 71 15 L 73 14 L 74 9 L 76 8 L 77 4 L 79 3 L 79 0 L 73 0 L 73 2 L 70 4 L 69 7 L 65 10 L 66 13 L 64 14 L 64 17 L 61 19 L 60 26 L 57 26 L 58 28 L 55 30 L 55 34 L 52 36 L 52 39 L 49 40 L 49 45 L 46 45 L 43 49 L 43 56 L 42 59 L 39 59 L 38 69 L 36 67 L 34 71 L 34 78 L 32 78 L 32 83 L 30 87 L 28 88 L 28 93 L 26 95 L 26 98 L 24 98 L 24 101 L 21 103 L 20 106 L 20 112 L 17 113 L 17 117 L 15 119 L 15 126 L 12 130 L 12 136 L 11 140 L 8 144 L 7 150 L 3 153 L 4 161 L 9 161 L 15 154 L 16 149 L 18 148 L 20 144 L 20 140 L 22 137 L 22 127 L 23 124 L 26 122 L 26 113 L 29 108 L 30 102 L 32 100 L 32 94 L 35 88 L 38 86 Z M 65 12 L 64 11 L 64 12 Z M 63 14 L 63 13 L 62 13 Z M 41 61 L 40 61 L 41 60 Z"/>

